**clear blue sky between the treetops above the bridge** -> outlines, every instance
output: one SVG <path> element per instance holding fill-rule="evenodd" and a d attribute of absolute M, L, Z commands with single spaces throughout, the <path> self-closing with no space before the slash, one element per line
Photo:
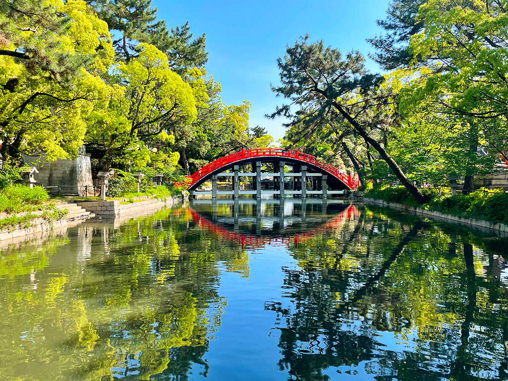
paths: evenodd
<path fill-rule="evenodd" d="M 228 105 L 251 103 L 249 125 L 264 126 L 275 140 L 284 136 L 282 120 L 264 117 L 282 99 L 270 82 L 278 83 L 277 57 L 300 36 L 323 39 L 343 52 L 372 48 L 365 39 L 379 34 L 377 19 L 385 18 L 388 0 L 166 2 L 152 0 L 168 27 L 189 21 L 195 36 L 206 34 L 208 73 L 223 86 Z M 368 62 L 377 71 L 376 64 Z"/>

